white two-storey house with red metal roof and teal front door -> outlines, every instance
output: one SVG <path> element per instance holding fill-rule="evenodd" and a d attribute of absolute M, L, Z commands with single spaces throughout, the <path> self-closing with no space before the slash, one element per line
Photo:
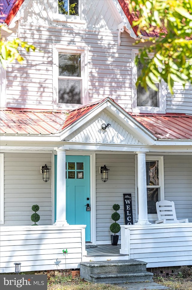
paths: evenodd
<path fill-rule="evenodd" d="M 176 83 L 173 96 L 164 83 L 137 90 L 142 44 L 133 46 L 127 2 L 0 1 L 7 39 L 38 48 L 1 68 L 2 273 L 18 261 L 22 271 L 79 268 L 90 260 L 85 243 L 111 244 L 114 203 L 120 253 L 110 259 L 192 265 L 192 87 Z M 189 223 L 155 224 L 159 200 L 173 201 Z"/>

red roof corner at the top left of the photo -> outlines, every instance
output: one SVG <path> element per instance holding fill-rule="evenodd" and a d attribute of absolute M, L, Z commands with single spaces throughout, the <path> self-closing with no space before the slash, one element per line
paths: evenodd
<path fill-rule="evenodd" d="M 24 0 L 0 0 L 0 23 L 5 22 L 9 25 L 23 1 Z"/>

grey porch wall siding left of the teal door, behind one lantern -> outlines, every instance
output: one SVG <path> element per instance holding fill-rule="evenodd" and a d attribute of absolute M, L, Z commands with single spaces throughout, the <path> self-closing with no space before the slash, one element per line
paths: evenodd
<path fill-rule="evenodd" d="M 32 225 L 32 205 L 40 207 L 39 225 L 52 224 L 51 174 L 44 182 L 40 167 L 51 168 L 50 153 L 4 153 L 4 225 Z"/>

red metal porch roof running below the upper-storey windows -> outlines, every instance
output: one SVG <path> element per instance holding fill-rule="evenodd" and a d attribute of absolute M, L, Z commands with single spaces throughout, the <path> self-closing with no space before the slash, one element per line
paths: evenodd
<path fill-rule="evenodd" d="M 63 131 L 108 98 L 69 112 L 2 110 L 2 134 L 55 134 Z M 109 98 L 110 99 L 110 98 Z M 113 99 L 110 99 L 113 101 Z M 117 104 L 113 101 L 114 104 Z M 119 105 L 118 105 L 119 106 Z M 120 107 L 120 106 L 119 106 Z M 121 107 L 120 107 L 121 108 Z M 125 110 L 124 110 L 125 111 Z M 158 139 L 192 139 L 192 116 L 127 113 Z"/>

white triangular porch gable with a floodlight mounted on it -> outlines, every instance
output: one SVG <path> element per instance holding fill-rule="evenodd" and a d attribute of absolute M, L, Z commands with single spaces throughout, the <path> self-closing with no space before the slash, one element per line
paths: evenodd
<path fill-rule="evenodd" d="M 102 124 L 110 124 L 106 130 L 101 129 Z M 94 144 L 121 144 L 121 145 L 143 145 L 125 126 L 122 126 L 107 110 L 93 117 L 83 126 L 64 138 L 69 142 L 85 142 Z"/>

